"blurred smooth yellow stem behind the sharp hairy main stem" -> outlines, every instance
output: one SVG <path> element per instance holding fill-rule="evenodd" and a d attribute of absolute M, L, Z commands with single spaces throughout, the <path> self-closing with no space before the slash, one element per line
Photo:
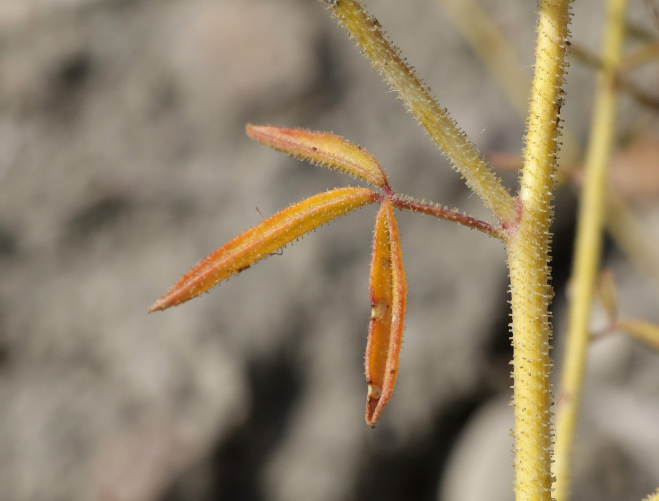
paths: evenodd
<path fill-rule="evenodd" d="M 570 303 L 565 365 L 561 372 L 556 417 L 557 501 L 569 496 L 571 452 L 588 347 L 590 303 L 602 247 L 606 216 L 606 170 L 616 120 L 616 69 L 624 39 L 626 0 L 609 0 L 604 28 L 604 54 L 598 78 L 592 129 L 585 163 L 585 179 L 577 221 L 577 243 L 572 270 L 573 299 Z"/>

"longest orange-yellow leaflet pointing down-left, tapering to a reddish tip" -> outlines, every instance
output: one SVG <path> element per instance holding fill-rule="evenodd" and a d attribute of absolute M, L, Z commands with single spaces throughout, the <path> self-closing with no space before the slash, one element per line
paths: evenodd
<path fill-rule="evenodd" d="M 376 192 L 367 188 L 337 188 L 305 198 L 273 214 L 194 266 L 154 303 L 149 312 L 164 310 L 200 295 L 304 233 L 374 202 L 376 196 Z"/>

